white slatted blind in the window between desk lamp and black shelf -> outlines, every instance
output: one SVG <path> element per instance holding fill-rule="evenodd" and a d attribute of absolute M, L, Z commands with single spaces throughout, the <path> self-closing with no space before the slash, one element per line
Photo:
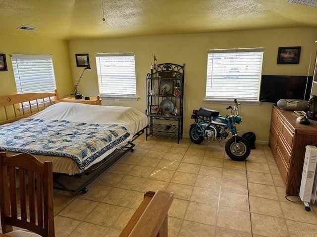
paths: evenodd
<path fill-rule="evenodd" d="M 136 97 L 134 54 L 97 54 L 99 92 L 108 97 Z"/>

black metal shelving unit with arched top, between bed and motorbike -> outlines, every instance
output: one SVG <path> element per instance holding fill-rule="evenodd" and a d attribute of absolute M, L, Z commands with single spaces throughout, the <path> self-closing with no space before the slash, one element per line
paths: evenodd
<path fill-rule="evenodd" d="M 146 115 L 149 119 L 149 126 L 146 131 L 146 138 L 149 136 L 158 136 L 167 139 L 176 138 L 177 142 L 183 138 L 183 107 L 184 107 L 184 72 L 185 64 L 178 65 L 173 63 L 162 63 L 157 65 L 157 69 L 151 70 L 147 75 L 147 109 Z M 151 93 L 154 87 L 162 80 L 173 81 L 175 90 L 176 83 L 179 84 L 180 95 L 162 95 L 161 91 L 157 94 Z M 160 105 L 160 103 L 168 99 L 173 102 L 177 108 L 177 114 L 157 114 L 151 113 L 151 106 Z"/>

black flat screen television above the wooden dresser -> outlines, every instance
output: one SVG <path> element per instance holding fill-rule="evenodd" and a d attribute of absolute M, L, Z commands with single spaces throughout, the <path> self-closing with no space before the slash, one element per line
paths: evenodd
<path fill-rule="evenodd" d="M 313 77 L 263 75 L 260 88 L 260 101 L 276 103 L 280 99 L 310 98 Z"/>

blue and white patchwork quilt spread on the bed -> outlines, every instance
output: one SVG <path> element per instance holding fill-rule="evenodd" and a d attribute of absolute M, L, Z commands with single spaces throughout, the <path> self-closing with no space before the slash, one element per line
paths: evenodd
<path fill-rule="evenodd" d="M 129 136 L 116 124 L 23 118 L 0 126 L 0 150 L 68 157 L 83 169 Z"/>

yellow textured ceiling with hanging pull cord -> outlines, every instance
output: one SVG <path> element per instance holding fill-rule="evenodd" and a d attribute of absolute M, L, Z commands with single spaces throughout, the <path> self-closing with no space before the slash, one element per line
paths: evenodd
<path fill-rule="evenodd" d="M 317 8 L 287 0 L 0 0 L 1 32 L 78 39 L 317 27 Z M 21 25 L 38 30 L 16 30 Z"/>

